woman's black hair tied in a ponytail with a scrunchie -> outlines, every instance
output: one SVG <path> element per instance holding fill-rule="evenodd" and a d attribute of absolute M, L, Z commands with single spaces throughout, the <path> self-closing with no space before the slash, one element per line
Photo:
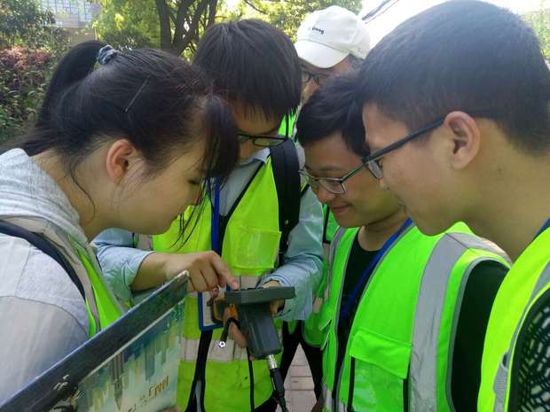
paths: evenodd
<path fill-rule="evenodd" d="M 54 150 L 73 175 L 99 144 L 126 138 L 153 174 L 203 136 L 206 175 L 228 175 L 239 151 L 231 110 L 198 67 L 163 51 L 90 41 L 60 61 L 20 147 L 31 156 Z"/>

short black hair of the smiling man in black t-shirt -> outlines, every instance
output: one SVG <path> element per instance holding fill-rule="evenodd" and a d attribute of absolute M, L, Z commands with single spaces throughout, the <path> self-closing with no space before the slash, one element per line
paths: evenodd
<path fill-rule="evenodd" d="M 335 75 L 313 93 L 296 123 L 296 136 L 303 147 L 342 133 L 351 152 L 361 157 L 368 154 L 357 87 L 358 74 L 351 71 Z"/>

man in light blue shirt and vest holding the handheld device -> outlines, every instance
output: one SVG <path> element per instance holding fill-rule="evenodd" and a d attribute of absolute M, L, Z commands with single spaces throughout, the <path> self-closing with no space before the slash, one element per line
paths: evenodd
<path fill-rule="evenodd" d="M 183 233 L 177 219 L 152 244 L 145 238 L 145 249 L 153 253 L 132 248 L 141 246 L 143 237 L 134 242 L 132 234 L 112 229 L 96 240 L 98 257 L 122 300 L 184 269 L 216 278 L 228 268 L 241 288 L 294 286 L 295 299 L 272 305 L 279 311 L 280 331 L 281 319 L 309 315 L 322 267 L 321 206 L 301 185 L 290 131 L 278 133 L 281 120 L 300 101 L 299 61 L 287 35 L 263 21 L 243 19 L 210 27 L 193 64 L 232 105 L 240 164 L 226 182 L 208 179 L 200 204 L 183 215 Z M 208 300 L 196 293 L 185 298 L 178 406 L 190 412 L 275 411 L 266 362 L 249 359 L 246 339 L 234 323 L 232 338 L 223 349 L 218 346 L 222 330 L 212 329 Z"/>

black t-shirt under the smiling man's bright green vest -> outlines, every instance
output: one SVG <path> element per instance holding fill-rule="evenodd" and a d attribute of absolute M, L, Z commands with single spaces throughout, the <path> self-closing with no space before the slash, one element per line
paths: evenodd
<path fill-rule="evenodd" d="M 342 286 L 341 310 L 353 291 L 365 268 L 374 259 L 378 251 L 365 251 L 355 238 L 350 251 L 350 260 L 344 275 Z M 507 274 L 507 268 L 499 263 L 487 260 L 479 263 L 470 273 L 460 305 L 457 332 L 452 353 L 451 391 L 452 400 L 457 412 L 472 412 L 477 410 L 477 394 L 481 383 L 481 359 L 485 331 L 491 315 L 492 303 L 499 286 Z M 338 354 L 336 369 L 342 367 L 343 355 L 350 336 L 351 324 L 357 311 L 359 300 L 363 296 L 365 284 L 372 272 L 368 274 L 363 289 L 354 300 L 350 316 L 341 319 L 338 324 Z M 335 378 L 338 378 L 336 376 Z M 408 385 L 408 379 L 405 381 Z M 406 393 L 404 388 L 405 404 Z M 408 409 L 408 408 L 405 408 Z M 544 410 L 546 412 L 546 410 Z"/>

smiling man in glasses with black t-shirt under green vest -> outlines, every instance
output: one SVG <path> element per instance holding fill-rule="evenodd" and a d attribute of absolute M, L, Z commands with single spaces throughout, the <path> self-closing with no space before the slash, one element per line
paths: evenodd
<path fill-rule="evenodd" d="M 343 74 L 326 83 L 297 124 L 302 173 L 342 228 L 318 311 L 324 410 L 475 411 L 483 335 L 507 262 L 463 223 L 423 235 L 380 187 L 362 162 L 357 82 Z"/>

